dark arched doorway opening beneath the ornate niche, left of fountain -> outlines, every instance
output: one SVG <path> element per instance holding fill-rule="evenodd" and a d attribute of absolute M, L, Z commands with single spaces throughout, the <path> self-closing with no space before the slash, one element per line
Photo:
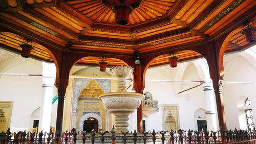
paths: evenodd
<path fill-rule="evenodd" d="M 91 133 L 93 130 L 95 132 L 98 132 L 99 128 L 99 122 L 94 117 L 86 118 L 86 120 L 83 121 L 83 131 Z"/>

